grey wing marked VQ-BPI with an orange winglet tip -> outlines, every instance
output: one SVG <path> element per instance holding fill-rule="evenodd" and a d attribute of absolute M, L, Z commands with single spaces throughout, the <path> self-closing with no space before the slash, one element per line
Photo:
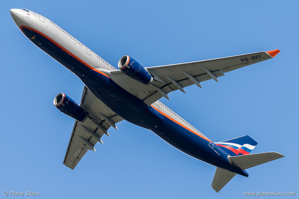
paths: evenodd
<path fill-rule="evenodd" d="M 279 52 L 279 50 L 262 51 L 217 59 L 147 67 L 147 71 L 154 78 L 150 85 L 142 84 L 130 78 L 121 70 L 106 71 L 106 74 L 120 87 L 150 105 L 163 96 L 169 99 L 167 94 L 174 90 L 184 92 L 183 88 L 192 84 L 201 87 L 200 82 L 202 81 L 209 79 L 218 81 L 217 78 L 223 76 L 225 72 L 271 59 Z"/>

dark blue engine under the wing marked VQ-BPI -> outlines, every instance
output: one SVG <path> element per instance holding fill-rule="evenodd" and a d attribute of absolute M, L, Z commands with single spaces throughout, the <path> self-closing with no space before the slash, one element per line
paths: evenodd
<path fill-rule="evenodd" d="M 152 83 L 152 75 L 141 66 L 137 61 L 128 55 L 124 55 L 118 61 L 118 68 L 131 78 L 140 81 L 143 84 L 149 85 Z"/>

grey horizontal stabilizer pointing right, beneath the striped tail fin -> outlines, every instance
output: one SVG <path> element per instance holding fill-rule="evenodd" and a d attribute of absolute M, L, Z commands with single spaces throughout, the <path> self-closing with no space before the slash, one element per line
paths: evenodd
<path fill-rule="evenodd" d="M 250 155 L 239 155 L 239 156 L 229 157 L 229 159 L 239 168 L 245 170 L 283 157 L 284 155 L 281 155 L 280 153 L 277 152 L 266 152 L 266 153 L 250 154 Z"/>

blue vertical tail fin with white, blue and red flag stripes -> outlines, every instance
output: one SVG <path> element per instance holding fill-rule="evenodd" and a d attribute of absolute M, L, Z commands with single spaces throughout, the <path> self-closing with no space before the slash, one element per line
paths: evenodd
<path fill-rule="evenodd" d="M 257 142 L 248 135 L 214 144 L 231 156 L 248 155 L 257 146 Z"/>

